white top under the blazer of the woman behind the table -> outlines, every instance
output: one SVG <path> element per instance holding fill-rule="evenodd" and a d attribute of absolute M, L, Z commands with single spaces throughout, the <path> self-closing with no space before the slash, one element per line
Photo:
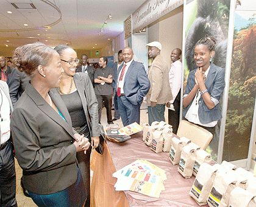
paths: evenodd
<path fill-rule="evenodd" d="M 205 71 L 205 73 L 204 73 L 205 77 L 207 77 L 209 70 L 210 70 L 210 66 L 207 69 L 207 71 Z M 199 121 L 199 116 L 198 116 L 199 104 L 198 103 L 199 103 L 200 97 L 201 97 L 201 93 L 200 93 L 200 89 L 198 89 L 198 91 L 196 93 L 196 96 L 194 97 L 193 102 L 192 102 L 192 104 L 190 106 L 190 109 L 188 110 L 185 118 L 188 119 L 188 121 L 193 122 L 194 124 L 199 124 L 199 125 L 202 125 L 204 127 L 214 127 L 217 124 L 218 121 L 213 121 L 213 122 L 210 122 L 208 124 L 202 124 Z"/>

